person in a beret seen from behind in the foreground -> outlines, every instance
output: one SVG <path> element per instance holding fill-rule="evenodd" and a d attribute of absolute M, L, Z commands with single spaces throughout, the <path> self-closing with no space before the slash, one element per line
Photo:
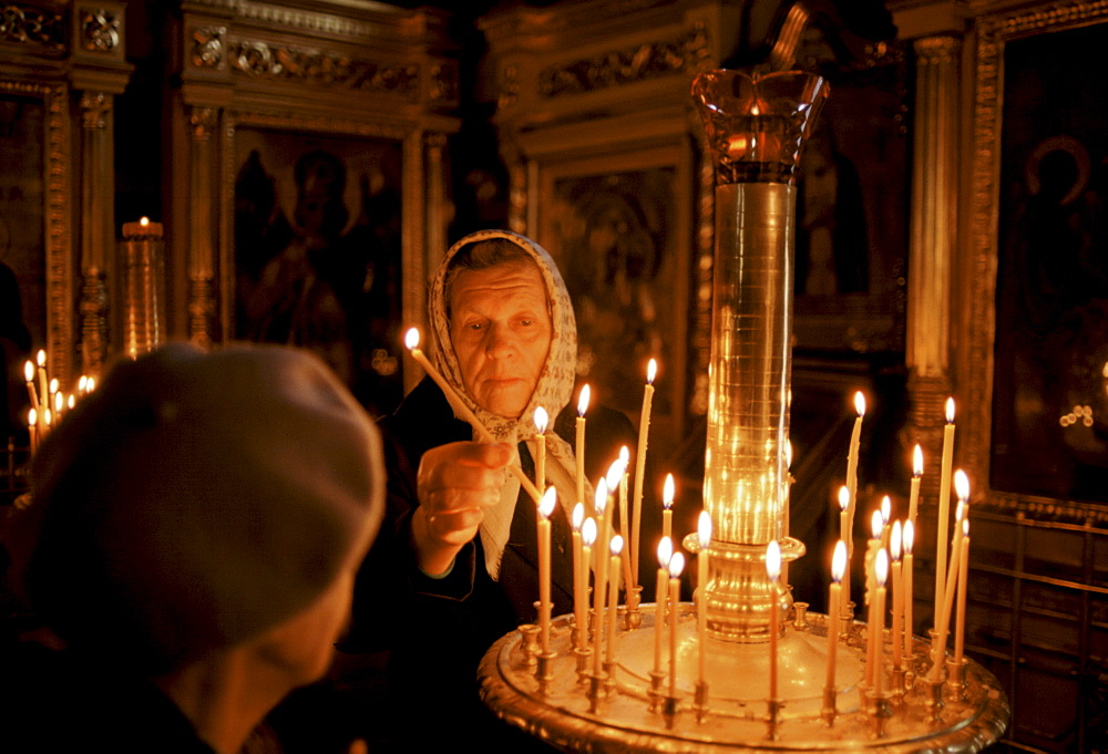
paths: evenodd
<path fill-rule="evenodd" d="M 327 670 L 384 478 L 376 426 L 318 358 L 170 344 L 122 363 L 32 473 L 9 546 L 57 639 L 6 667 L 0 750 L 233 754 Z"/>

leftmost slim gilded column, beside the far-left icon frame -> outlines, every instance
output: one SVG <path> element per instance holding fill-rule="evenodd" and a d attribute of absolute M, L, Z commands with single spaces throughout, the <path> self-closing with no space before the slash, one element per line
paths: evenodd
<path fill-rule="evenodd" d="M 113 233 L 114 185 L 112 95 L 81 95 L 81 361 L 83 371 L 100 374 L 107 355 L 107 273 Z"/>

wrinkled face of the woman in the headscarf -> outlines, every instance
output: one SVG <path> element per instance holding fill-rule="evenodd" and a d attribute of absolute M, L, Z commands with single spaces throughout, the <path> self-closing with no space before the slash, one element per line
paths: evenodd
<path fill-rule="evenodd" d="M 462 382 L 482 407 L 519 419 L 551 347 L 546 288 L 536 265 L 512 262 L 458 273 L 450 340 Z"/>

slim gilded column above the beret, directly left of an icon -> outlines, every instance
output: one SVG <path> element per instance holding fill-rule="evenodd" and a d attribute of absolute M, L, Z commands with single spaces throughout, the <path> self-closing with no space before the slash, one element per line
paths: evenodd
<path fill-rule="evenodd" d="M 207 348 L 212 344 L 212 320 L 215 316 L 214 270 L 215 249 L 211 218 L 217 217 L 212 182 L 214 155 L 212 131 L 218 121 L 213 107 L 192 107 L 188 188 L 192 214 L 188 233 L 188 339 Z"/>

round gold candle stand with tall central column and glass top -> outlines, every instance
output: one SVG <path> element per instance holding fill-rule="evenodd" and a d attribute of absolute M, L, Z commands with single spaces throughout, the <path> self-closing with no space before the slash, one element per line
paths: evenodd
<path fill-rule="evenodd" d="M 697 76 L 693 91 L 717 176 L 704 485 L 716 530 L 710 541 L 704 537 L 707 548 L 699 534 L 685 539 L 707 559 L 707 578 L 695 607 L 673 600 L 666 672 L 660 613 L 632 599 L 607 608 L 623 620 L 604 663 L 576 640 L 605 630 L 603 609 L 589 627 L 555 619 L 546 651 L 536 627 L 502 638 L 481 663 L 483 699 L 505 721 L 567 751 L 979 751 L 1009 715 L 984 668 L 954 663 L 945 644 L 933 650 L 885 630 L 883 611 L 869 627 L 854 620 L 853 605 L 839 611 L 834 599 L 829 616 L 810 613 L 792 602 L 770 562 L 778 547 L 784 561 L 804 552 L 782 536 L 794 174 L 828 87 L 799 72 L 712 71 Z M 659 576 L 659 600 L 661 583 Z M 883 583 L 882 576 L 879 605 Z"/>

